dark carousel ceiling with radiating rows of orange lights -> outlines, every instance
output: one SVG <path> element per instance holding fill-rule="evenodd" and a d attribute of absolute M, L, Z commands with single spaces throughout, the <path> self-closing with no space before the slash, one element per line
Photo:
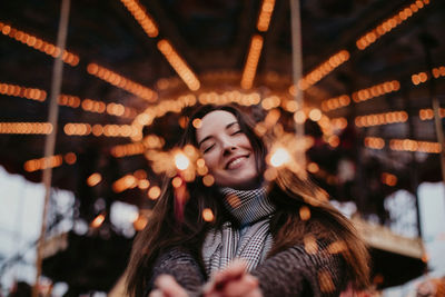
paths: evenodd
<path fill-rule="evenodd" d="M 301 0 L 298 87 L 289 1 L 71 1 L 56 156 L 44 161 L 60 2 L 0 3 L 0 165 L 12 174 L 40 181 L 49 165 L 53 186 L 80 199 L 140 205 L 158 182 L 144 152 L 171 148 L 181 109 L 236 101 L 297 120 L 299 88 L 303 118 L 325 122 L 309 171 L 334 195 L 350 199 L 329 181 L 340 159 L 393 189 L 411 187 L 413 162 L 418 181 L 441 179 L 432 97 L 443 106 L 444 1 Z"/>

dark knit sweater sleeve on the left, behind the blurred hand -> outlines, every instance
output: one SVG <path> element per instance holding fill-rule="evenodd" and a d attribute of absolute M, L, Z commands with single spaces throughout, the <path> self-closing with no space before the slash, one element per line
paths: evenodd
<path fill-rule="evenodd" d="M 160 275 L 172 276 L 188 291 L 189 296 L 198 296 L 206 281 L 197 259 L 181 248 L 169 249 L 157 258 L 148 281 L 146 296 L 155 288 L 155 280 Z"/>

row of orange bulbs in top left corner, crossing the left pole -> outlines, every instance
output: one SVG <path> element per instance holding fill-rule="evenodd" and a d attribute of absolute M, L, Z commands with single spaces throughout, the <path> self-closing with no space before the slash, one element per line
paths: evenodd
<path fill-rule="evenodd" d="M 20 41 L 23 44 L 27 44 L 30 48 L 37 49 L 46 55 L 51 56 L 52 58 L 57 58 L 60 56 L 61 50 L 59 47 L 47 42 L 33 34 L 27 33 L 24 31 L 18 30 L 10 24 L 0 21 L 0 32 L 4 36 L 8 36 L 17 41 Z M 63 62 L 75 67 L 79 63 L 79 56 L 69 52 L 67 50 L 62 53 Z"/>

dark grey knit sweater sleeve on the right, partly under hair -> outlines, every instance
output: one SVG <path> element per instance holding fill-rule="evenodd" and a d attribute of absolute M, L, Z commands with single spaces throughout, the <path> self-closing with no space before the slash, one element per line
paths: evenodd
<path fill-rule="evenodd" d="M 342 256 L 324 250 L 308 254 L 298 245 L 266 259 L 251 275 L 264 297 L 338 296 L 346 271 Z"/>

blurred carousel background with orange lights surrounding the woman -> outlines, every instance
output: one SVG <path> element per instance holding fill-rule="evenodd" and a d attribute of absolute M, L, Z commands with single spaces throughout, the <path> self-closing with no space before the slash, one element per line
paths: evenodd
<path fill-rule="evenodd" d="M 44 296 L 121 296 L 162 152 L 208 102 L 304 127 L 308 174 L 369 245 L 364 295 L 443 296 L 444 16 L 441 0 L 1 1 L 0 296 L 30 296 L 37 274 Z"/>

